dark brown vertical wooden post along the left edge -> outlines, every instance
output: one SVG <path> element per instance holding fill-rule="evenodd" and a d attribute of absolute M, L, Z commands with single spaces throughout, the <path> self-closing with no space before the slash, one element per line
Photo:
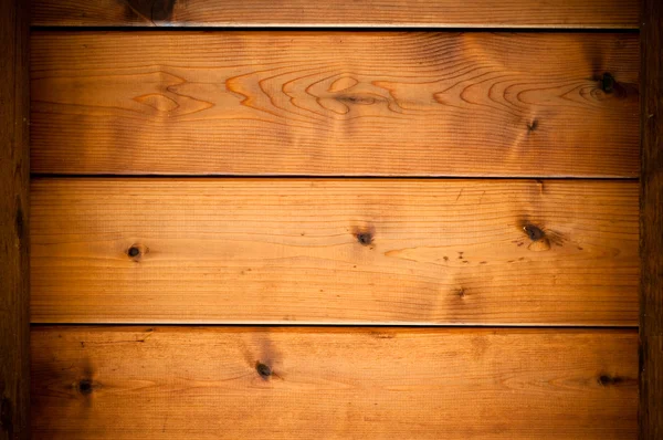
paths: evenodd
<path fill-rule="evenodd" d="M 0 439 L 29 438 L 29 71 L 25 0 L 0 0 Z"/>

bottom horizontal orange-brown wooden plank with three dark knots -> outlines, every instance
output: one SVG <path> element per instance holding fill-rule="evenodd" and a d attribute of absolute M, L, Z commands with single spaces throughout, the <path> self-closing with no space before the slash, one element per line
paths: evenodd
<path fill-rule="evenodd" d="M 32 332 L 35 438 L 632 439 L 635 331 Z"/>

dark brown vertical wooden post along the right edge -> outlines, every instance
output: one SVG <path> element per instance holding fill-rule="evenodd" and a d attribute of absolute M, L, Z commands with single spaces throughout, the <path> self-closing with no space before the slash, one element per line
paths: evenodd
<path fill-rule="evenodd" d="M 640 439 L 654 440 L 663 438 L 663 4 L 643 4 Z"/>

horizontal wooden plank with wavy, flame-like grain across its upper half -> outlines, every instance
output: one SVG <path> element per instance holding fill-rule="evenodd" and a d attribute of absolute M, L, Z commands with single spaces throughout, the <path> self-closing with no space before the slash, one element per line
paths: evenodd
<path fill-rule="evenodd" d="M 639 174 L 636 34 L 36 32 L 32 171 Z"/>

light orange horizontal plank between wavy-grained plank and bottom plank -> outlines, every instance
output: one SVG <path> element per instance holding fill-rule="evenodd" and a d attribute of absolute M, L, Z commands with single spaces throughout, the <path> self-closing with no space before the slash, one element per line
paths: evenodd
<path fill-rule="evenodd" d="M 38 323 L 638 323 L 638 182 L 36 179 Z"/>

